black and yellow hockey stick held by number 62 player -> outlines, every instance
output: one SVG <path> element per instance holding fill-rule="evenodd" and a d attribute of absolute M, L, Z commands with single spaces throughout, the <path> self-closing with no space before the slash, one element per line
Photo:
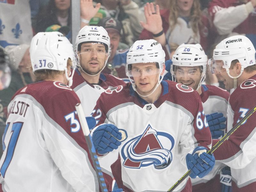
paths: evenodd
<path fill-rule="evenodd" d="M 232 129 L 230 129 L 229 132 L 227 132 L 226 135 L 224 135 L 224 137 L 222 137 L 218 143 L 216 143 L 208 152 L 207 154 L 212 154 L 213 151 L 215 151 L 218 147 L 220 147 L 220 145 L 226 140 L 228 139 L 228 137 L 236 131 L 236 129 L 238 127 L 240 127 L 242 124 L 245 123 L 245 121 L 256 111 L 256 106 L 254 108 L 252 108 L 251 111 L 249 111 L 249 113 L 246 114 L 246 116 L 244 116 L 244 118 L 239 121 L 234 127 L 232 127 Z M 180 185 L 180 183 L 185 180 L 191 173 L 191 169 L 188 170 L 188 172 L 186 172 L 167 192 L 172 192 L 176 187 L 178 187 L 178 185 Z"/>

